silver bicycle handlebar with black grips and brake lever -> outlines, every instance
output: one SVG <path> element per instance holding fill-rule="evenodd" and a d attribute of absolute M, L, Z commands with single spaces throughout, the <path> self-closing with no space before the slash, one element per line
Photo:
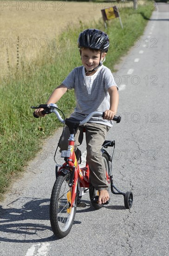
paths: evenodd
<path fill-rule="evenodd" d="M 42 115 L 48 115 L 48 114 L 51 114 L 51 113 L 55 113 L 55 115 L 58 117 L 58 120 L 62 123 L 64 123 L 64 120 L 62 119 L 62 117 L 60 116 L 60 114 L 58 113 L 58 111 L 56 109 L 58 109 L 58 106 L 56 104 L 41 104 L 39 105 L 38 107 L 32 107 L 31 108 L 33 109 L 37 109 L 37 108 L 44 108 L 44 110 L 42 110 Z M 39 118 L 38 115 L 35 115 L 35 113 L 33 112 L 33 116 L 35 118 Z M 104 117 L 104 112 L 92 112 L 91 114 L 87 115 L 87 117 L 83 120 L 83 121 L 80 121 L 80 124 L 79 125 L 84 125 L 85 123 L 87 123 L 92 116 L 100 116 L 100 117 Z M 100 120 L 101 121 L 101 120 Z M 113 121 L 116 121 L 117 123 L 119 123 L 121 121 L 121 116 L 114 116 L 113 117 Z"/>

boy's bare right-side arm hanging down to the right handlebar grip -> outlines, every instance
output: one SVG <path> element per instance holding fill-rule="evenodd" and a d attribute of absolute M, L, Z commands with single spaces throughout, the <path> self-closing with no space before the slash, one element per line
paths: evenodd
<path fill-rule="evenodd" d="M 110 95 L 110 109 L 104 111 L 104 119 L 112 120 L 117 113 L 118 107 L 118 90 L 116 86 L 112 86 L 108 89 Z"/>

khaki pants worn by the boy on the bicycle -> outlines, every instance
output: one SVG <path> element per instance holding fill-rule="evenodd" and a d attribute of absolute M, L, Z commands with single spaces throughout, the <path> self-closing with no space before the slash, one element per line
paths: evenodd
<path fill-rule="evenodd" d="M 98 123 L 86 123 L 83 126 L 79 126 L 75 134 L 74 147 L 77 160 L 79 160 L 81 155 L 81 151 L 77 148 L 77 146 L 81 145 L 83 141 L 84 128 L 87 149 L 86 161 L 88 162 L 90 168 L 90 182 L 97 190 L 107 189 L 108 182 L 106 179 L 105 169 L 103 168 L 104 165 L 101 148 L 110 127 Z M 66 126 L 59 143 L 60 151 L 67 150 L 69 137 L 69 128 Z"/>

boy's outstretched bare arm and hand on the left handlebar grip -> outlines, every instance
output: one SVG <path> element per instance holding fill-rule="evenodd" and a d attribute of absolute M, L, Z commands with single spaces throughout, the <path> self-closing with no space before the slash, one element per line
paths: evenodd
<path fill-rule="evenodd" d="M 67 91 L 67 88 L 65 87 L 65 85 L 61 84 L 59 85 L 51 94 L 51 96 L 49 97 L 48 101 L 46 102 L 46 104 L 51 104 L 51 103 L 56 103 L 58 102 L 58 100 L 60 100 L 60 98 L 65 94 L 65 92 Z M 39 108 L 36 109 L 35 111 L 35 115 L 38 116 L 45 116 L 42 115 L 42 110 L 43 108 Z"/>

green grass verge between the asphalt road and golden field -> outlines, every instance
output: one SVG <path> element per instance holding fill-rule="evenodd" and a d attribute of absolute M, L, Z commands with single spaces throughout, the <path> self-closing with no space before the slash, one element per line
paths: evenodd
<path fill-rule="evenodd" d="M 143 34 L 150 18 L 151 10 L 140 7 L 121 10 L 123 29 L 118 19 L 110 20 L 107 34 L 110 37 L 110 50 L 105 65 L 113 71 L 120 57 L 127 53 L 133 39 Z M 59 38 L 64 47 L 48 47 L 44 56 L 31 65 L 20 63 L 19 69 L 10 70 L 0 87 L 0 194 L 7 190 L 12 178 L 24 170 L 28 160 L 38 153 L 44 138 L 60 126 L 55 115 L 34 119 L 31 105 L 45 103 L 56 88 L 77 66 L 81 65 L 77 47 L 78 34 L 87 27 L 105 31 L 102 20 L 98 24 L 68 28 Z M 118 40 L 115 40 L 118 39 Z M 126 45 L 126 40 L 128 43 Z M 120 40 L 120 44 L 119 44 Z M 16 79 L 14 81 L 12 79 Z M 67 91 L 58 102 L 58 107 L 68 116 L 75 107 L 74 94 Z"/>

